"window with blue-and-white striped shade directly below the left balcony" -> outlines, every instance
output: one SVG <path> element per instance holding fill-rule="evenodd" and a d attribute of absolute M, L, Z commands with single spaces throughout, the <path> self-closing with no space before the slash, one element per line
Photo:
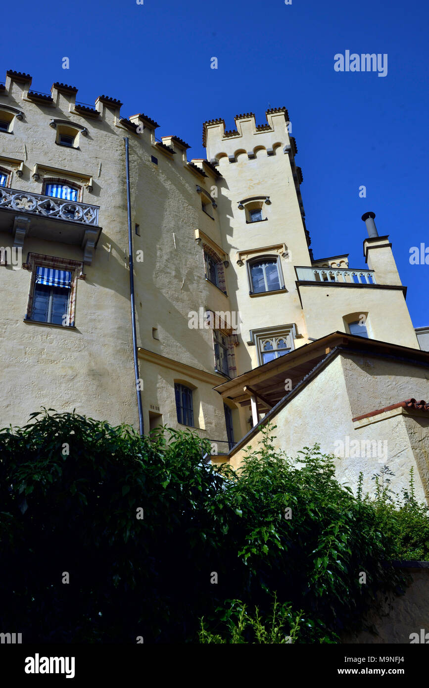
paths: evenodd
<path fill-rule="evenodd" d="M 72 272 L 37 266 L 31 319 L 66 325 L 71 286 Z"/>

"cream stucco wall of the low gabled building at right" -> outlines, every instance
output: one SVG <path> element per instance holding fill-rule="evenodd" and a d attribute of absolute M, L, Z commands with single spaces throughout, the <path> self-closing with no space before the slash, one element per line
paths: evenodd
<path fill-rule="evenodd" d="M 352 366 L 352 363 L 354 364 Z M 386 405 L 401 401 L 402 397 L 394 396 L 395 373 L 400 378 L 399 370 L 392 369 L 388 376 L 390 363 L 382 361 L 380 369 L 375 370 L 380 361 L 374 365 L 374 385 L 366 382 L 366 374 L 358 363 L 351 363 L 348 356 L 337 356 L 322 372 L 316 376 L 299 394 L 283 407 L 272 422 L 276 424 L 274 445 L 283 449 L 292 458 L 298 458 L 298 451 L 303 447 L 320 444 L 323 453 L 336 455 L 336 475 L 340 482 L 356 490 L 359 473 L 364 474 L 364 492 L 374 490 L 372 480 L 374 473 L 380 473 L 385 464 L 395 473 L 391 487 L 401 493 L 401 488 L 408 488 L 409 471 L 413 466 L 416 478 L 417 499 L 423 501 L 429 496 L 428 467 L 429 460 L 423 446 L 429 444 L 427 414 L 410 416 L 403 409 L 385 414 L 365 422 L 353 422 L 358 414 L 369 413 Z M 353 367 L 353 379 L 351 373 Z M 394 365 L 392 365 L 395 368 Z M 407 384 L 419 385 L 418 376 L 412 371 L 403 371 L 402 376 Z M 380 386 L 386 382 L 386 397 L 380 402 Z M 426 385 L 428 385 L 426 380 Z M 365 406 L 360 411 L 355 400 L 355 392 L 360 389 L 365 396 Z M 390 396 L 389 396 L 390 395 Z M 417 414 L 418 415 L 418 414 Z M 245 447 L 236 451 L 230 464 L 236 469 L 243 460 L 246 447 L 253 449 L 261 440 L 261 432 L 256 433 Z M 352 442 L 358 442 L 352 444 Z M 342 442 L 342 444 L 340 444 Z M 375 444 L 367 444 L 373 443 Z M 419 449 L 420 447 L 420 449 Z M 340 457 L 340 449 L 343 456 Z M 418 452 L 421 451 L 421 455 Z"/>

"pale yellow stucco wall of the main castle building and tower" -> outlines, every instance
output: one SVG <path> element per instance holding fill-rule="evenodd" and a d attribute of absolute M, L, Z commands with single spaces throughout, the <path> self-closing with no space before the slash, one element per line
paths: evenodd
<path fill-rule="evenodd" d="M 0 160 L 0 166 L 10 171 L 9 186 L 43 193 L 45 178 L 76 182 L 76 176 L 70 177 L 68 172 L 82 175 L 79 200 L 100 206 L 102 233 L 92 264 L 85 266 L 86 280 L 78 280 L 76 329 L 24 323 L 30 272 L 21 270 L 20 265 L 0 267 L 0 289 L 7 304 L 1 312 L 0 329 L 2 424 L 23 424 L 32 411 L 45 405 L 58 411 L 76 407 L 89 416 L 113 423 L 131 422 L 137 427 L 127 265 L 125 136 L 130 146 L 137 345 L 155 354 L 151 360 L 146 357 L 140 361 L 146 429 L 149 413 L 152 421 L 153 413 L 159 413 L 164 422 L 168 419 L 173 426 L 177 424 L 174 380 L 181 379 L 195 389 L 195 403 L 201 407 L 195 417 L 199 418 L 201 432 L 213 440 L 225 438 L 223 402 L 212 391 L 225 378 L 214 372 L 212 332 L 189 327 L 192 312 L 228 312 L 236 314 L 237 319 L 239 314 L 238 346 L 234 348 L 237 374 L 258 365 L 256 347 L 249 343 L 251 330 L 293 324 L 298 333 L 294 346 L 299 347 L 309 341 L 309 336 L 342 330 L 344 312 L 361 308 L 369 310 L 371 336 L 416 345 L 399 291 L 332 289 L 327 308 L 323 288 L 305 287 L 302 308 L 295 267 L 310 266 L 311 262 L 299 174 L 294 155 L 288 152 L 293 147 L 285 111 L 267 111 L 268 124 L 259 129 L 254 116 L 239 116 L 236 133 L 228 136 L 221 122 L 206 124 L 208 160 L 217 165 L 222 175 L 219 177 L 201 160 L 193 161 L 197 169 L 189 165 L 184 142 L 164 137 L 164 144 L 173 149 L 173 154 L 159 147 L 155 123 L 137 115 L 130 120 L 135 125 L 144 122 L 140 133 L 135 133 L 132 125 L 125 126 L 120 122 L 118 103 L 97 99 L 100 117 L 93 119 L 76 111 L 76 94 L 66 93 L 61 87 L 53 87 L 53 103 L 49 105 L 28 97 L 30 79 L 25 81 L 22 75 L 8 76 L 5 86 L 5 91 L 0 92 L 0 110 L 3 104 L 23 111 L 22 120 L 14 117 L 13 133 L 0 132 L 0 155 L 10 160 Z M 87 136 L 78 133 L 78 148 L 56 143 L 63 125 L 50 127 L 53 118 L 87 128 Z M 151 155 L 155 155 L 157 164 Z M 36 165 L 50 166 L 57 172 L 39 170 L 40 178 L 36 180 Z M 21 177 L 17 174 L 19 166 Z M 85 186 L 89 178 L 92 192 Z M 216 208 L 210 205 L 212 217 L 201 208 L 204 193 L 217 204 Z M 246 223 L 248 211 L 239 208 L 240 201 L 252 197 L 262 199 L 263 222 Z M 0 214 L 5 212 L 0 208 Z M 28 217 L 32 218 L 30 213 Z M 47 219 L 47 227 L 49 223 Z M 135 223 L 140 225 L 140 236 L 134 233 Z M 0 232 L 0 246 L 5 248 L 12 246 L 11 224 L 12 220 L 8 229 Z M 195 240 L 197 231 L 225 252 L 229 261 L 225 267 L 226 295 L 205 279 L 203 242 Z M 392 269 L 391 249 L 371 248 L 369 253 L 372 256 L 377 251 L 377 269 L 380 279 L 385 279 L 386 270 Z M 24 241 L 23 261 L 28 252 L 83 259 L 80 247 L 42 240 L 31 232 Z M 279 256 L 285 290 L 252 297 L 247 261 L 267 253 Z M 243 265 L 237 260 L 242 260 Z M 395 275 L 392 279 L 395 281 Z M 391 320 L 393 313 L 395 323 Z M 171 374 L 165 376 L 166 368 L 159 368 L 156 356 L 169 359 Z M 184 365 L 188 366 L 185 372 Z M 227 403 L 234 407 L 232 402 Z M 234 408 L 235 440 L 248 429 L 248 416 L 248 409 Z"/>

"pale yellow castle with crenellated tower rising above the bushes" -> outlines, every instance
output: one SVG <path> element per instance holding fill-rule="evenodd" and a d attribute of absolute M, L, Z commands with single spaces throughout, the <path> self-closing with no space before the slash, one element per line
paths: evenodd
<path fill-rule="evenodd" d="M 238 466 L 265 418 L 290 453 L 336 452 L 344 482 L 415 466 L 427 497 L 427 328 L 374 213 L 364 268 L 314 258 L 285 107 L 205 122 L 189 161 L 115 98 L 31 85 L 0 84 L 2 426 L 43 405 L 190 427 Z"/>

